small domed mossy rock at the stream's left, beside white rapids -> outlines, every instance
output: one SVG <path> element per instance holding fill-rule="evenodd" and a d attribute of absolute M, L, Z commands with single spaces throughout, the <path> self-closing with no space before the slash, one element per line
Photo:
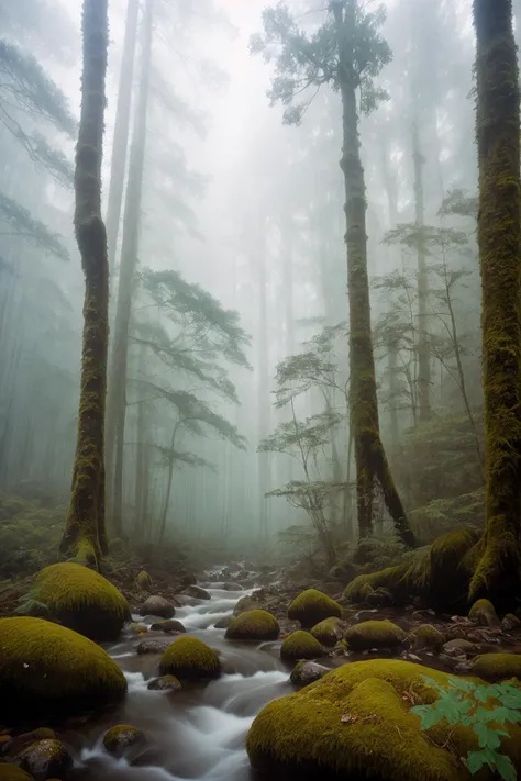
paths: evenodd
<path fill-rule="evenodd" d="M 185 635 L 168 646 L 159 669 L 163 676 L 176 676 L 181 681 L 219 678 L 221 660 L 202 640 Z"/>

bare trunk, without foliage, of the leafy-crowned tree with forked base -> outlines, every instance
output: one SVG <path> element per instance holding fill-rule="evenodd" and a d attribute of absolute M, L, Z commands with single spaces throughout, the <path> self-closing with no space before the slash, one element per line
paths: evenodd
<path fill-rule="evenodd" d="M 392 480 L 379 428 L 367 275 L 365 180 L 359 154 L 356 92 L 350 67 L 352 57 L 348 51 L 348 30 L 354 29 L 355 23 L 354 18 L 350 18 L 348 11 L 350 8 L 344 19 L 342 5 L 336 3 L 333 5 L 342 70 L 341 168 L 345 186 L 345 243 L 350 301 L 350 408 L 355 445 L 358 528 L 362 537 L 372 533 L 374 504 L 380 494 L 395 523 L 397 534 L 407 546 L 413 547 L 414 534 Z M 354 7 L 351 7 L 351 12 L 355 13 Z"/>

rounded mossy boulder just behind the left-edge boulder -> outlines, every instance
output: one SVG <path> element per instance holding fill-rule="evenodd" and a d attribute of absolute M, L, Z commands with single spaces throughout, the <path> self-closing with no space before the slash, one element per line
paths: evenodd
<path fill-rule="evenodd" d="M 93 640 L 117 639 L 131 617 L 129 603 L 115 585 L 70 561 L 38 572 L 27 600 L 29 605 L 31 600 L 44 604 L 52 620 Z"/>

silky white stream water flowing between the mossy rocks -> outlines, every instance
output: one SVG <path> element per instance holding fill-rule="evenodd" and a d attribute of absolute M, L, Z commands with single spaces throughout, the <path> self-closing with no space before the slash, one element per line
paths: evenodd
<path fill-rule="evenodd" d="M 225 591 L 223 583 L 206 587 L 210 601 L 177 607 L 187 634 L 214 648 L 224 673 L 209 684 L 179 692 L 149 691 L 158 674 L 159 655 L 136 654 L 143 637 L 123 636 L 107 650 L 121 666 L 129 683 L 126 700 L 81 733 L 68 733 L 75 748 L 78 781 L 245 781 L 251 778 L 244 748 L 246 733 L 258 711 L 270 700 L 290 693 L 289 670 L 280 661 L 276 643 L 233 643 L 213 625 L 230 615 L 248 591 Z M 153 623 L 147 616 L 145 624 Z M 156 618 L 157 620 L 157 618 Z M 151 633 L 147 638 L 174 639 L 177 635 Z M 131 724 L 145 732 L 148 744 L 129 765 L 103 750 L 104 732 L 115 724 Z"/>

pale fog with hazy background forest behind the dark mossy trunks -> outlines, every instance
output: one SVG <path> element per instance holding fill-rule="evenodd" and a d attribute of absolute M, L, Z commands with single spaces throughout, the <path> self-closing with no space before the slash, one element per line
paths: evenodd
<path fill-rule="evenodd" d="M 0 490 L 64 506 L 84 295 L 79 7 L 0 3 Z M 321 524 L 357 535 L 341 98 L 302 83 L 298 123 L 270 105 L 264 7 L 110 2 L 112 536 L 313 550 Z M 329 13 L 288 8 L 309 36 Z M 359 107 L 372 332 L 383 442 L 426 542 L 483 503 L 474 31 L 469 3 L 386 12 L 392 58 Z M 392 527 L 384 500 L 375 523 Z"/>

